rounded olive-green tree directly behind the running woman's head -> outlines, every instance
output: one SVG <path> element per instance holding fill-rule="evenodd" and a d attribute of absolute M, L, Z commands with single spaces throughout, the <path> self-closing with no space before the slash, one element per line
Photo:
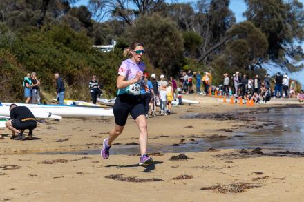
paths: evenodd
<path fill-rule="evenodd" d="M 178 26 L 171 19 L 159 14 L 142 16 L 134 26 L 129 26 L 126 39 L 144 43 L 146 55 L 155 68 L 171 74 L 178 72 L 183 41 Z"/>

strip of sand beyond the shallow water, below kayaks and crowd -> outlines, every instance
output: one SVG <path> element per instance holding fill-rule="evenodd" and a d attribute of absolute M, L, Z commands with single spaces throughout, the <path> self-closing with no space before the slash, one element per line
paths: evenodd
<path fill-rule="evenodd" d="M 262 121 L 252 120 L 225 120 L 225 114 L 230 112 L 250 113 L 267 108 L 302 108 L 301 103 L 287 102 L 272 103 L 272 105 L 255 105 L 247 107 L 245 105 L 231 105 L 221 103 L 219 99 L 210 97 L 200 97 L 189 95 L 187 99 L 200 101 L 198 105 L 182 105 L 173 108 L 173 113 L 169 116 L 157 116 L 148 119 L 149 143 L 152 145 L 162 143 L 162 136 L 166 139 L 165 145 L 178 144 L 179 139 L 186 138 L 205 138 L 214 135 L 225 135 L 232 137 L 235 132 L 252 132 L 258 130 L 265 124 Z M 204 119 L 182 119 L 187 114 L 205 114 Z M 218 116 L 224 116 L 218 119 Z M 209 116 L 209 117 L 208 117 Z M 137 128 L 133 119 L 128 119 L 126 128 L 115 143 L 126 145 L 137 143 Z M 169 125 L 164 125 L 169 123 Z M 202 125 L 203 123 L 203 125 Z M 249 128 L 248 125 L 253 126 Z M 46 123 L 39 123 L 34 132 L 32 141 L 12 141 L 9 139 L 8 130 L 0 130 L 0 134 L 5 139 L 0 140 L 1 154 L 36 154 L 45 152 L 73 152 L 79 150 L 92 150 L 102 147 L 102 139 L 114 125 L 113 117 L 97 119 L 62 119 L 61 121 L 46 120 Z M 203 127 L 202 127 L 203 126 Z M 247 128 L 245 128 L 247 126 Z M 243 130 L 242 130 L 243 128 Z M 229 132 L 225 132 L 225 130 Z M 134 132 L 133 132 L 134 131 Z M 5 133 L 4 133 L 5 132 Z M 191 136 L 191 137 L 190 137 Z M 164 145 L 164 143 L 162 143 Z"/>

